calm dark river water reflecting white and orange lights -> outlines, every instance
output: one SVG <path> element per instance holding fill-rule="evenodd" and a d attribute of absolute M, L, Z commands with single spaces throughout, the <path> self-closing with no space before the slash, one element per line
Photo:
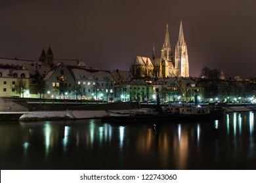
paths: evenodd
<path fill-rule="evenodd" d="M 255 113 L 218 120 L 0 122 L 1 169 L 256 169 Z"/>

